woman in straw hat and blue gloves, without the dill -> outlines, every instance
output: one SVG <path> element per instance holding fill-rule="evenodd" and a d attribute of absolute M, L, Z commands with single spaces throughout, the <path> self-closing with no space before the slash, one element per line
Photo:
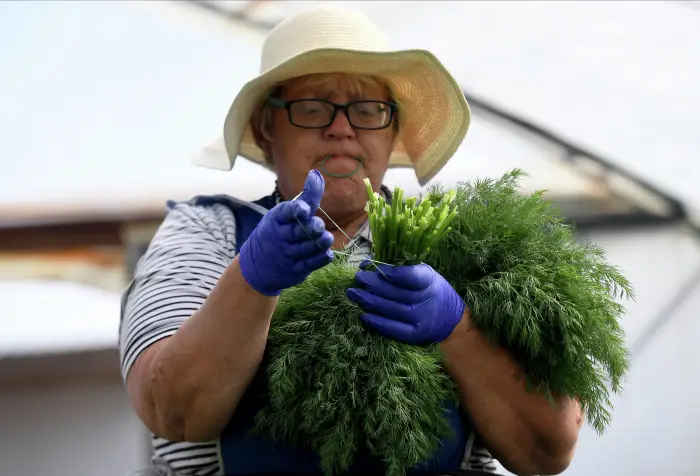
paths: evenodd
<path fill-rule="evenodd" d="M 259 403 L 246 390 L 261 371 L 278 296 L 334 250 L 358 260 L 369 252 L 364 178 L 387 198 L 390 166 L 412 166 L 425 184 L 469 124 L 460 88 L 433 55 L 389 51 L 381 31 L 353 11 L 315 9 L 283 22 L 265 42 L 261 69 L 227 116 L 227 157 L 200 165 L 230 169 L 240 154 L 274 171 L 275 190 L 253 203 L 226 195 L 171 203 L 124 295 L 123 374 L 165 473 L 320 474 L 316 455 L 248 434 Z M 425 283 L 414 294 L 432 302 L 420 323 L 377 313 L 377 296 L 392 299 L 381 286 L 348 295 L 375 331 L 438 342 L 460 389 L 457 438 L 413 473 L 494 472 L 491 454 L 517 474 L 562 472 L 579 406 L 526 392 L 516 365 L 472 328 L 449 284 L 432 269 L 406 268 L 414 286 Z M 356 472 L 382 472 L 380 462 L 361 459 Z"/>

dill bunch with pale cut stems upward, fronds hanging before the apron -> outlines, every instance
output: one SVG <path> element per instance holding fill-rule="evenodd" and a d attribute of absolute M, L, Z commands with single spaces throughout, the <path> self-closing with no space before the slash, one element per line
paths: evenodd
<path fill-rule="evenodd" d="M 417 264 L 450 231 L 454 193 L 387 204 L 365 181 L 372 255 Z M 450 435 L 444 405 L 457 393 L 436 345 L 413 346 L 367 330 L 346 290 L 356 266 L 346 259 L 282 293 L 269 334 L 269 402 L 256 417 L 272 437 L 315 450 L 326 474 L 346 471 L 361 448 L 388 476 L 426 462 Z M 381 272 L 381 271 L 380 271 Z"/>

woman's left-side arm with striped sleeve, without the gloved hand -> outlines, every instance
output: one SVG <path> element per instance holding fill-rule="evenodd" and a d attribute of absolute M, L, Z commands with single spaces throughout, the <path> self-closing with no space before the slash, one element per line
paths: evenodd
<path fill-rule="evenodd" d="M 127 391 L 144 424 L 167 440 L 216 439 L 264 352 L 276 298 L 243 279 L 235 236 L 223 205 L 176 204 L 125 293 Z"/>

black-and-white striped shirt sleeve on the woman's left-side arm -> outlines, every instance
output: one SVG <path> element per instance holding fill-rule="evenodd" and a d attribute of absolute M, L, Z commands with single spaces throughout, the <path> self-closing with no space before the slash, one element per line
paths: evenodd
<path fill-rule="evenodd" d="M 122 377 L 154 342 L 172 336 L 204 303 L 235 255 L 235 219 L 222 204 L 177 203 L 122 296 Z"/>

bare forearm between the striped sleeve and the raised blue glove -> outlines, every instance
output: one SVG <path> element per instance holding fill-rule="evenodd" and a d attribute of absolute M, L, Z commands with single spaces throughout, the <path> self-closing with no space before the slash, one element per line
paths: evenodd
<path fill-rule="evenodd" d="M 153 349 L 142 380 L 159 433 L 218 437 L 260 365 L 276 302 L 248 286 L 235 259 L 204 305 Z"/>

